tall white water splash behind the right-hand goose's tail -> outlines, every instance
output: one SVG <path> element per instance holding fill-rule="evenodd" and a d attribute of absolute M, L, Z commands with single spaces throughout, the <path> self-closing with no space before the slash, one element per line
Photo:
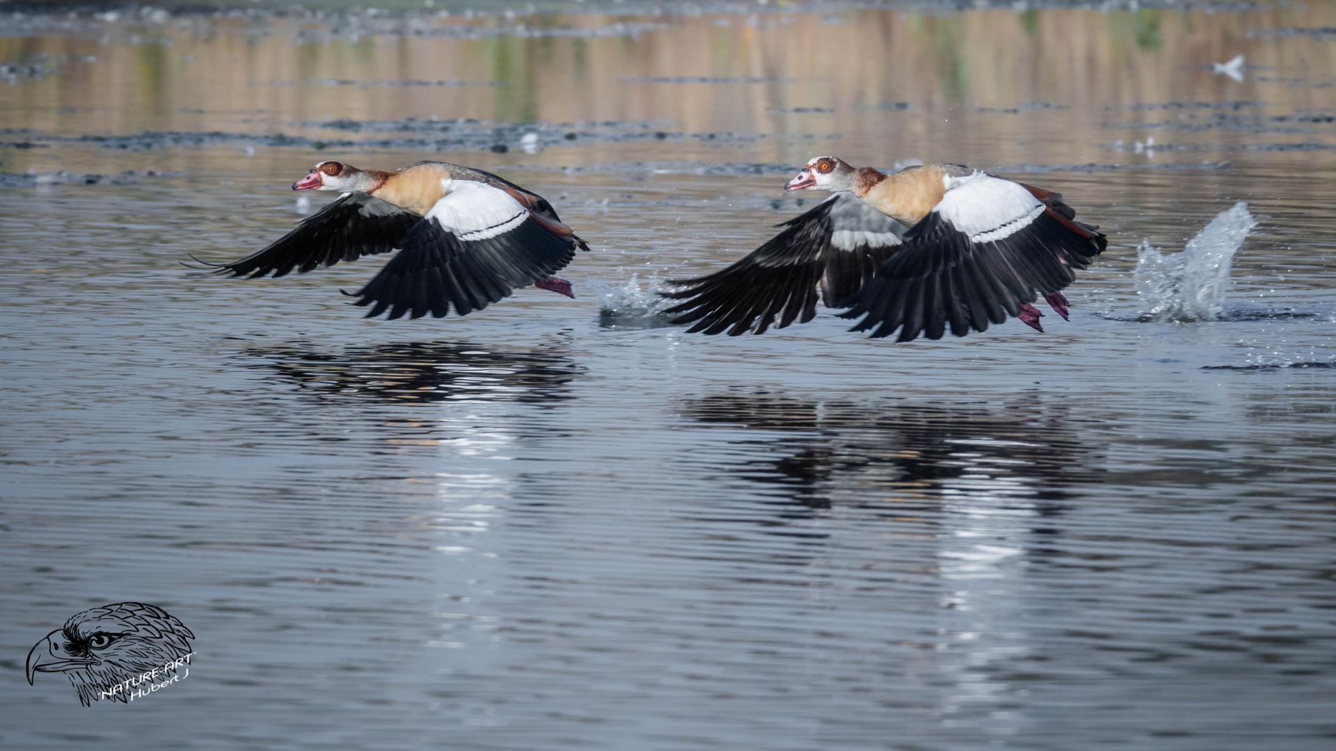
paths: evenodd
<path fill-rule="evenodd" d="M 1142 313 L 1154 321 L 1213 321 L 1232 285 L 1229 269 L 1257 220 L 1240 200 L 1221 211 L 1182 253 L 1162 255 L 1148 241 L 1137 249 L 1133 277 Z"/>

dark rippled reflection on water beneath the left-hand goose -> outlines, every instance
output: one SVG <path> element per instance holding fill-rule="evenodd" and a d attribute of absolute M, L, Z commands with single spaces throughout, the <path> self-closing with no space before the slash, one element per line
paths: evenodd
<path fill-rule="evenodd" d="M 568 400 L 585 369 L 552 349 L 498 350 L 458 342 L 353 345 L 335 351 L 306 346 L 244 350 L 305 390 L 390 402 Z"/>

